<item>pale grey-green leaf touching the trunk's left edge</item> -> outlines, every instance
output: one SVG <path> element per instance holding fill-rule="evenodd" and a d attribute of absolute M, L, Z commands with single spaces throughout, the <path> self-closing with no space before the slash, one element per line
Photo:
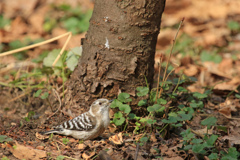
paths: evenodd
<path fill-rule="evenodd" d="M 67 52 L 66 64 L 67 67 L 73 71 L 78 64 L 78 59 L 82 55 L 82 46 L 72 48 L 69 52 Z"/>

